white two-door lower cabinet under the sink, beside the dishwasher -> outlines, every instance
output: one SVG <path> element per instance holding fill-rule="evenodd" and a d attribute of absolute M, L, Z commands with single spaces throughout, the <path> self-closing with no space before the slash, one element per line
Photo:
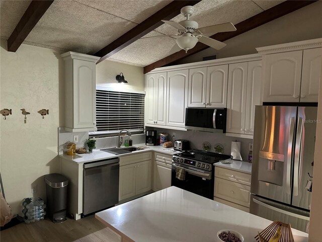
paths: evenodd
<path fill-rule="evenodd" d="M 151 190 L 151 152 L 120 157 L 119 201 Z"/>

